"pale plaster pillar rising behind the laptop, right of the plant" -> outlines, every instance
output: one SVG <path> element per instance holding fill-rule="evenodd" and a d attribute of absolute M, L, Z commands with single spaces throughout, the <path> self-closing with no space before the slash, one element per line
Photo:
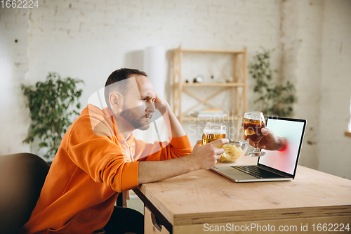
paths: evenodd
<path fill-rule="evenodd" d="M 307 119 L 300 164 L 317 169 L 324 1 L 283 1 L 282 78 L 296 85 L 294 117 Z"/>

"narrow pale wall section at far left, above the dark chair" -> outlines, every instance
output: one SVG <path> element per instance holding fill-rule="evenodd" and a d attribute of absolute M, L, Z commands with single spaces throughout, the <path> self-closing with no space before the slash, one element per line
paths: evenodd
<path fill-rule="evenodd" d="M 29 70 L 28 48 L 29 14 L 0 8 L 0 155 L 29 151 L 29 145 L 22 144 L 29 110 L 19 89 Z"/>

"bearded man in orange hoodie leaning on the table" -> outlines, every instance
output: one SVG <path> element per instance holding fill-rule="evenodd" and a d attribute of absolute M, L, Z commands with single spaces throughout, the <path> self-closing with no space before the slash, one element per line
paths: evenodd
<path fill-rule="evenodd" d="M 119 193 L 216 164 L 220 139 L 192 149 L 183 127 L 145 72 L 120 69 L 105 84 L 108 108 L 88 105 L 69 127 L 51 164 L 41 195 L 20 233 L 143 233 L 143 215 L 114 204 Z M 169 142 L 146 143 L 158 109 Z M 112 214 L 113 212 L 113 214 Z"/>

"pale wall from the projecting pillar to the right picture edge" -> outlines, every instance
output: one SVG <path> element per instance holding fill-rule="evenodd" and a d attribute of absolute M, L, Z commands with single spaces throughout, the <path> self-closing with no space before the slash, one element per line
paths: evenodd
<path fill-rule="evenodd" d="M 351 1 L 282 2 L 282 78 L 307 119 L 300 164 L 351 178 Z"/>

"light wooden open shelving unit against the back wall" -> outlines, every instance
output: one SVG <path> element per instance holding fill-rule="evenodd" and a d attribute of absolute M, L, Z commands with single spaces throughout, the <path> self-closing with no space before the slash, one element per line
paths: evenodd
<path fill-rule="evenodd" d="M 234 56 L 234 64 L 232 77 L 234 78 L 234 82 L 230 83 L 185 83 L 182 79 L 182 58 L 183 53 L 219 53 L 219 54 L 231 54 Z M 244 112 L 246 112 L 247 108 L 247 56 L 246 56 L 246 48 L 242 50 L 231 50 L 231 51 L 216 51 L 216 50 L 194 50 L 194 49 L 185 49 L 185 48 L 175 48 L 173 49 L 172 56 L 172 68 L 173 68 L 173 112 L 176 113 L 180 124 L 186 121 L 202 121 L 208 118 L 199 118 L 199 117 L 190 117 L 188 114 L 190 111 L 199 107 L 199 105 L 206 105 L 209 108 L 218 108 L 208 102 L 218 96 L 218 94 L 223 92 L 232 92 L 232 110 L 229 111 L 230 115 L 227 117 L 220 117 L 217 119 L 213 119 L 213 121 L 232 121 L 237 122 L 241 119 Z M 218 92 L 214 93 L 211 96 L 208 96 L 205 99 L 199 98 L 194 92 L 188 91 L 188 87 L 219 87 Z M 241 92 L 239 91 L 241 89 Z M 182 107 L 182 99 L 183 94 L 186 93 L 187 96 L 194 98 L 198 101 L 198 103 L 187 110 L 183 110 Z M 237 115 L 241 115 L 241 117 L 237 117 Z"/>

